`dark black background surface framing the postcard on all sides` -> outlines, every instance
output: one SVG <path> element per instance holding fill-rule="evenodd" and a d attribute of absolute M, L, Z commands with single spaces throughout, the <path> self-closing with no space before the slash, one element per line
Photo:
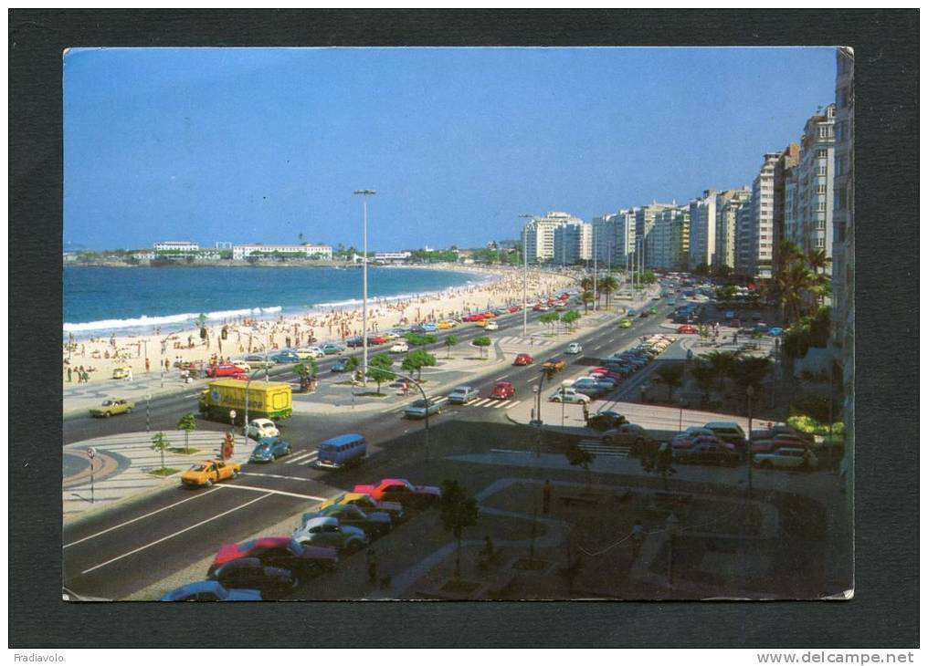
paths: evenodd
<path fill-rule="evenodd" d="M 917 10 L 9 10 L 8 17 L 10 647 L 206 647 L 213 642 L 336 647 L 349 635 L 351 647 L 918 646 Z M 853 600 L 286 606 L 61 601 L 62 51 L 102 45 L 406 44 L 854 47 Z M 340 621 L 364 631 L 330 631 Z M 260 632 L 225 630 L 259 626 Z M 204 634 L 204 627 L 214 630 Z"/>

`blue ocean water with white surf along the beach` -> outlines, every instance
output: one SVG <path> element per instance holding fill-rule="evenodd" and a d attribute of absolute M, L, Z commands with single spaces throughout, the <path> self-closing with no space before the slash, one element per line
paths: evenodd
<path fill-rule="evenodd" d="M 64 333 L 144 333 L 205 314 L 277 317 L 361 303 L 362 270 L 270 267 L 65 267 Z M 367 270 L 369 298 L 399 298 L 483 282 L 455 270 Z"/>

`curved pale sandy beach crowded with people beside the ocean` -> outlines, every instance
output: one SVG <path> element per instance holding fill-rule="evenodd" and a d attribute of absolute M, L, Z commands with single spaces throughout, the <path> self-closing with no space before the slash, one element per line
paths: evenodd
<path fill-rule="evenodd" d="M 422 268 L 422 267 L 417 267 Z M 523 272 L 519 268 L 485 268 L 433 265 L 436 270 L 467 270 L 491 276 L 486 282 L 447 289 L 436 294 L 422 294 L 393 300 L 369 299 L 367 303 L 368 334 L 385 332 L 396 326 L 410 326 L 422 321 L 437 321 L 482 312 L 490 307 L 522 304 Z M 395 270 L 403 270 L 396 267 Z M 529 270 L 528 302 L 560 294 L 574 288 L 577 278 L 566 273 Z M 360 297 L 360 295 L 359 295 Z M 88 383 L 112 378 L 119 367 L 131 369 L 131 378 L 145 373 L 179 372 L 181 362 L 202 363 L 204 366 L 220 359 L 242 358 L 247 354 L 263 353 L 265 349 L 342 344 L 345 338 L 360 335 L 363 328 L 362 308 L 329 308 L 326 311 L 302 315 L 280 315 L 274 320 L 234 320 L 209 322 L 206 337 L 191 324 L 172 329 L 157 328 L 148 334 L 101 334 L 89 339 L 66 339 L 62 345 L 62 381 L 78 383 L 86 377 Z M 223 330 L 226 330 L 225 339 Z M 315 338 L 315 342 L 312 339 Z"/>

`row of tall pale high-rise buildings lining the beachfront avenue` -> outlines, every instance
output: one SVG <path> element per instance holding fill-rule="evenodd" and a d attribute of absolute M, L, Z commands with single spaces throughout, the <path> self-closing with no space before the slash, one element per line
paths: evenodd
<path fill-rule="evenodd" d="M 759 279 L 773 274 L 787 239 L 832 256 L 836 215 L 846 209 L 836 179 L 850 169 L 837 106 L 806 120 L 798 143 L 764 155 L 751 185 L 705 190 L 689 202 L 622 208 L 590 222 L 565 212 L 523 228 L 531 263 L 600 264 L 658 270 L 715 269 Z M 844 133 L 843 133 L 844 132 Z"/>

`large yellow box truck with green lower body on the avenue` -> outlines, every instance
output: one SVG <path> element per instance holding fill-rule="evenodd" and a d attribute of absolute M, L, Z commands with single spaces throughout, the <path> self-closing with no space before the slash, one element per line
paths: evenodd
<path fill-rule="evenodd" d="M 293 414 L 293 390 L 284 382 L 242 382 L 221 379 L 211 382 L 200 395 L 200 414 L 213 421 L 245 421 L 245 396 L 248 394 L 248 418 L 279 421 Z"/>

